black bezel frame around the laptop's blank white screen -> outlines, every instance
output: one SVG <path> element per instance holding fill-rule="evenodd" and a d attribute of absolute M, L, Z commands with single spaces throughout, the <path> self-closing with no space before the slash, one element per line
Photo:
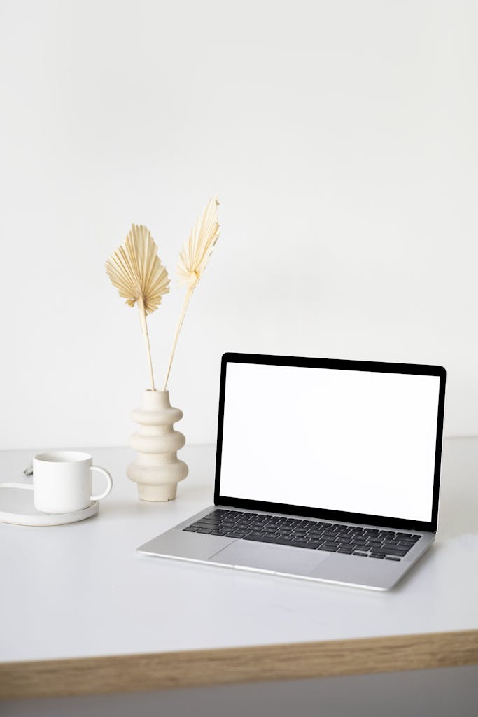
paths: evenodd
<path fill-rule="evenodd" d="M 388 374 L 414 374 L 419 376 L 438 376 L 439 402 L 436 422 L 436 450 L 433 498 L 431 504 L 431 521 L 411 521 L 406 518 L 390 516 L 373 516 L 368 513 L 348 513 L 330 511 L 324 508 L 308 508 L 303 505 L 287 505 L 285 503 L 269 503 L 262 500 L 248 500 L 221 495 L 221 454 L 224 428 L 224 397 L 226 392 L 227 364 L 263 364 L 269 366 L 304 366 L 317 369 L 345 369 L 347 371 L 374 371 Z M 231 508 L 249 508 L 253 511 L 283 513 L 307 518 L 326 518 L 333 521 L 365 523 L 372 526 L 390 528 L 408 528 L 417 531 L 436 531 L 438 521 L 438 500 L 441 468 L 441 442 L 443 439 L 443 418 L 445 402 L 446 371 L 443 366 L 426 366 L 421 364 L 388 364 L 383 361 L 348 361 L 344 359 L 305 359 L 295 356 L 269 356 L 259 353 L 224 353 L 221 359 L 221 382 L 219 386 L 219 417 L 216 446 L 216 478 L 214 483 L 214 505 L 229 505 Z"/>

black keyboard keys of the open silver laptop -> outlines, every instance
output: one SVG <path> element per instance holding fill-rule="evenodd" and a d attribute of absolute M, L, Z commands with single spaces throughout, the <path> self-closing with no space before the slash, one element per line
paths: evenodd
<path fill-rule="evenodd" d="M 219 508 L 183 528 L 183 531 L 395 561 L 406 556 L 421 538 L 401 531 L 381 531 L 379 528 L 360 528 L 344 523 L 302 521 L 300 518 Z"/>

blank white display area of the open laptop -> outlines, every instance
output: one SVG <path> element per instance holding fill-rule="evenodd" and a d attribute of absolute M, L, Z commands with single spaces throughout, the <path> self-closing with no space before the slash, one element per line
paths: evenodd
<path fill-rule="evenodd" d="M 228 363 L 221 495 L 431 521 L 439 376 Z"/>

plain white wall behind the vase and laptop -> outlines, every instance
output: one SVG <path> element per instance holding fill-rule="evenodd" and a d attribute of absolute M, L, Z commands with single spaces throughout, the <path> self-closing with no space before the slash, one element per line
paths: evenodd
<path fill-rule="evenodd" d="M 446 432 L 478 433 L 477 30 L 461 0 L 1 0 L 2 447 L 127 442 L 148 373 L 105 260 L 143 223 L 173 274 L 214 192 L 190 442 L 224 351 L 444 364 Z"/>

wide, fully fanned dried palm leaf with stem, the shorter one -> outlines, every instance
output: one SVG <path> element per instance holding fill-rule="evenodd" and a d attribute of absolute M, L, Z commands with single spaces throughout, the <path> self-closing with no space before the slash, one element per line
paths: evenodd
<path fill-rule="evenodd" d="M 169 277 L 158 257 L 158 247 L 147 227 L 132 224 L 125 242 L 106 262 L 106 273 L 128 306 L 138 304 L 145 337 L 151 387 L 155 391 L 146 315 L 161 304 L 169 291 Z"/>

